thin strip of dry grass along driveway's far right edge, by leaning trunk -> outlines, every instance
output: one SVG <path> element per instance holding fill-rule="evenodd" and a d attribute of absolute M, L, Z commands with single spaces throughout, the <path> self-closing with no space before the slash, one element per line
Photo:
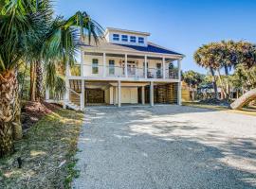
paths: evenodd
<path fill-rule="evenodd" d="M 210 110 L 214 110 L 214 111 L 226 111 L 226 112 L 233 112 L 233 113 L 240 113 L 240 114 L 256 116 L 255 108 L 251 108 L 251 107 L 247 107 L 242 110 L 230 110 L 228 107 L 225 107 L 225 106 L 202 104 L 202 103 L 198 103 L 198 102 L 182 102 L 182 105 L 195 107 L 195 108 L 210 109 Z"/>

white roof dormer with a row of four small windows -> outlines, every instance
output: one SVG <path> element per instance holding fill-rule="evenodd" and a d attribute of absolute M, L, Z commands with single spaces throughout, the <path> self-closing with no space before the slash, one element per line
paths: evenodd
<path fill-rule="evenodd" d="M 105 31 L 105 39 L 108 43 L 147 46 L 148 36 L 150 36 L 150 33 L 148 32 L 131 31 L 112 27 L 107 27 Z"/>

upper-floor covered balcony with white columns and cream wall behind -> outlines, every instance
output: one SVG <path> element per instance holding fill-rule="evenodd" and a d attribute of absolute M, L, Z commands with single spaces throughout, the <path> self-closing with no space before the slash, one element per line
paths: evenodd
<path fill-rule="evenodd" d="M 180 60 L 170 58 L 83 53 L 82 64 L 74 65 L 69 77 L 178 80 L 179 72 Z"/>

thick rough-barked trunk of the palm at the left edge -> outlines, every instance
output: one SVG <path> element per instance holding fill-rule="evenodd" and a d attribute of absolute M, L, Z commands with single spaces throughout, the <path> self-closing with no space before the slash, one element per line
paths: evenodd
<path fill-rule="evenodd" d="M 12 123 L 19 113 L 18 81 L 14 70 L 0 75 L 0 157 L 13 152 Z"/>

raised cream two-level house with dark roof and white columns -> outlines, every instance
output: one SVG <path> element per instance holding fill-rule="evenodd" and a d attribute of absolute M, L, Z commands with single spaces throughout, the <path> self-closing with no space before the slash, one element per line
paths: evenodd
<path fill-rule="evenodd" d="M 97 45 L 82 43 L 81 64 L 66 68 L 64 106 L 181 104 L 184 56 L 149 42 L 149 36 L 108 27 Z"/>

